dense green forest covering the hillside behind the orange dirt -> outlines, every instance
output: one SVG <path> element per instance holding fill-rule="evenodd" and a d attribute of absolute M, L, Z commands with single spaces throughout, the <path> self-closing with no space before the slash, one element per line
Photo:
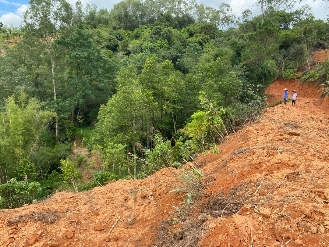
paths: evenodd
<path fill-rule="evenodd" d="M 299 2 L 31 0 L 21 27 L 0 22 L 0 208 L 219 154 L 275 79 L 328 80 L 329 19 Z"/>

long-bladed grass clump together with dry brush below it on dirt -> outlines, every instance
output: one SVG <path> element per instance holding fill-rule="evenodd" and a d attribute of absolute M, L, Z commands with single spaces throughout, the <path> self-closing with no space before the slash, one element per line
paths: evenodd
<path fill-rule="evenodd" d="M 181 193 L 185 201 L 181 208 L 175 207 L 177 210 L 162 221 L 152 246 L 198 246 L 203 233 L 208 230 L 206 222 L 237 214 L 244 205 L 254 203 L 249 184 L 234 186 L 228 193 L 210 195 L 205 189 L 211 180 L 200 168 L 188 163 L 177 175 L 179 186 L 169 193 Z"/>

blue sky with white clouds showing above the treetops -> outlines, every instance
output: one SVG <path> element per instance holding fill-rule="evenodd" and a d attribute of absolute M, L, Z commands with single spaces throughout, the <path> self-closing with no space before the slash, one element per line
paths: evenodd
<path fill-rule="evenodd" d="M 76 0 L 66 0 L 71 4 L 74 4 Z M 114 3 L 120 0 L 81 0 L 82 4 L 85 6 L 87 3 L 95 3 L 98 8 L 111 9 Z M 242 11 L 246 9 L 251 9 L 252 12 L 256 13 L 258 10 L 253 8 L 256 0 L 198 0 L 199 4 L 209 5 L 212 7 L 218 7 L 220 3 L 229 3 L 237 16 L 240 16 Z M 312 7 L 313 13 L 319 19 L 323 19 L 325 15 L 325 6 L 321 5 L 321 0 L 303 0 L 301 5 L 308 4 Z M 19 26 L 22 21 L 22 16 L 24 11 L 27 9 L 28 0 L 0 0 L 0 21 L 7 25 Z M 329 10 L 326 14 L 329 13 Z"/>

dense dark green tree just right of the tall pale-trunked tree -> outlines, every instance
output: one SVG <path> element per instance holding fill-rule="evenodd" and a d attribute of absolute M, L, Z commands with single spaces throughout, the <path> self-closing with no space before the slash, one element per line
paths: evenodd
<path fill-rule="evenodd" d="M 106 100 L 113 94 L 114 63 L 102 54 L 93 35 L 81 29 L 65 32 L 56 42 L 65 51 L 63 104 L 65 109 L 71 109 L 73 123 L 75 110 L 85 106 L 86 101 Z"/>

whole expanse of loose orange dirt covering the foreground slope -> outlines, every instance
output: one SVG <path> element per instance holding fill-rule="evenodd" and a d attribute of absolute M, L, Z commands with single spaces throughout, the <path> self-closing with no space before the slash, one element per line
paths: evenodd
<path fill-rule="evenodd" d="M 0 210 L 0 246 L 329 246 L 329 119 L 313 101 L 267 109 L 206 155 L 188 212 L 163 169 Z"/>

